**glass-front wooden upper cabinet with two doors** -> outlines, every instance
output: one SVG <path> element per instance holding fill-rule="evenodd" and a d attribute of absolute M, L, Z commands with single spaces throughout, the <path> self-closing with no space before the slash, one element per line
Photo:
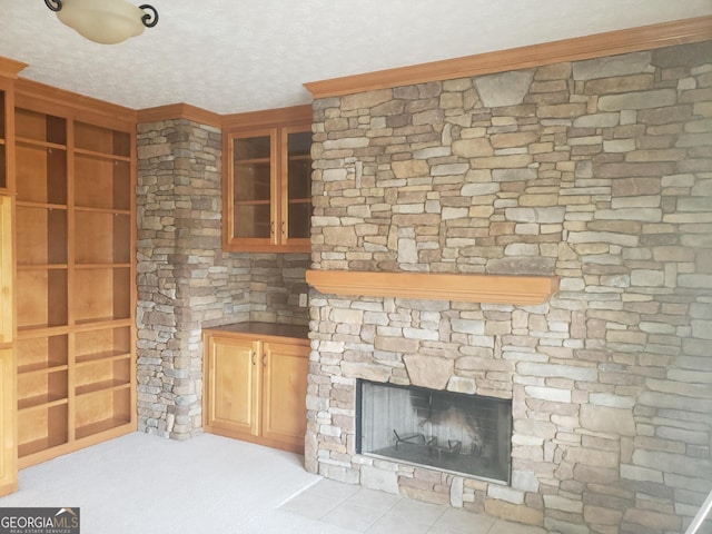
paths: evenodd
<path fill-rule="evenodd" d="M 224 248 L 309 251 L 310 125 L 233 132 L 224 184 Z"/>

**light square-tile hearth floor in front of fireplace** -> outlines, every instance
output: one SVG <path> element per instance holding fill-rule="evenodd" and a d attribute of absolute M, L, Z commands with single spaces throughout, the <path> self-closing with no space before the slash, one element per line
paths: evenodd
<path fill-rule="evenodd" d="M 366 534 L 546 534 L 462 510 L 324 478 L 279 510 Z"/>

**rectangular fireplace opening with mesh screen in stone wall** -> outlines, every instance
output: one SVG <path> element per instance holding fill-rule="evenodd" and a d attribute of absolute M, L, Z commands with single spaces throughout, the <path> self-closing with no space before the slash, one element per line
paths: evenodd
<path fill-rule="evenodd" d="M 358 454 L 510 483 L 512 402 L 358 380 Z"/>

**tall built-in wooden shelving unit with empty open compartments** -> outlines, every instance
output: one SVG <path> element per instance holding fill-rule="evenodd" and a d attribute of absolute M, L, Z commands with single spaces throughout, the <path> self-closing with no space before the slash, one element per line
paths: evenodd
<path fill-rule="evenodd" d="M 28 101 L 14 110 L 21 467 L 136 422 L 134 128 Z"/>

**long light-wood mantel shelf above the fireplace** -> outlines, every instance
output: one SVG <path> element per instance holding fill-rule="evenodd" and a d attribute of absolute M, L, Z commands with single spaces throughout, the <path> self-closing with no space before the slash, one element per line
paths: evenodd
<path fill-rule="evenodd" d="M 307 270 L 306 278 L 307 284 L 327 295 L 461 303 L 536 305 L 558 289 L 555 276 Z"/>

